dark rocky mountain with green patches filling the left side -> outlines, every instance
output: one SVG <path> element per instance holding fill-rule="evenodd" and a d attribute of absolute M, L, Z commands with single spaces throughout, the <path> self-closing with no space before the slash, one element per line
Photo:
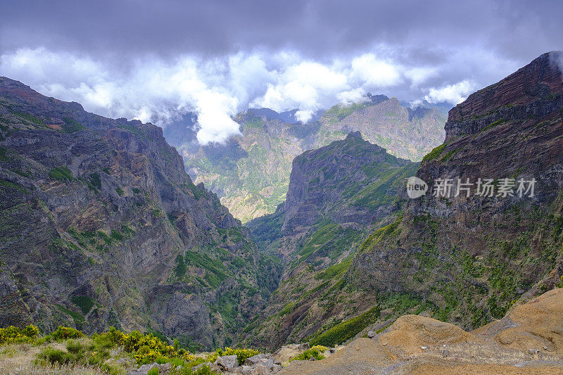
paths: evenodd
<path fill-rule="evenodd" d="M 162 130 L 0 78 L 0 321 L 113 325 L 210 348 L 277 285 Z"/>

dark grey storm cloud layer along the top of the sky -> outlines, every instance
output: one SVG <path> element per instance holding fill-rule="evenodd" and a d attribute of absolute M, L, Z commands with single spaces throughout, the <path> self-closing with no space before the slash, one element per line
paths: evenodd
<path fill-rule="evenodd" d="M 327 57 L 404 44 L 481 44 L 530 58 L 560 44 L 562 1 L 25 1 L 4 0 L 1 46 L 84 52 L 223 54 L 296 49 Z"/>

